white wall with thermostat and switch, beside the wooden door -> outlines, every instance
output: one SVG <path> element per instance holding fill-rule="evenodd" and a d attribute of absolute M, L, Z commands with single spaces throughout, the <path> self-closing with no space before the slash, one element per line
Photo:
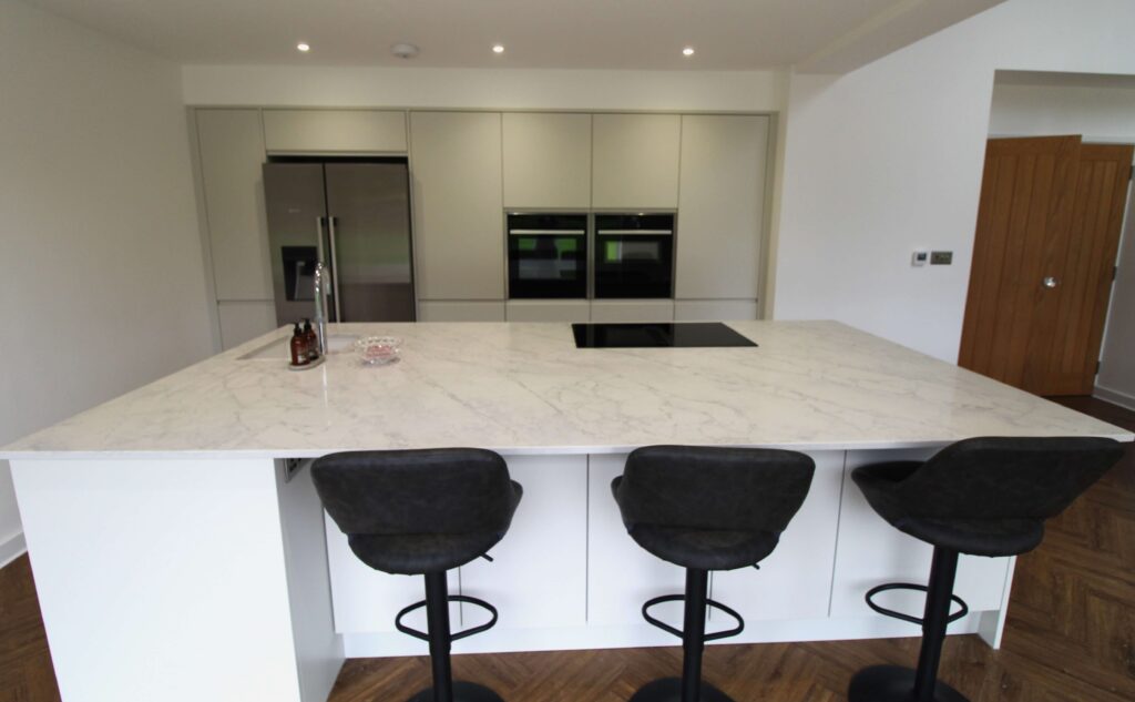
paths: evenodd
<path fill-rule="evenodd" d="M 1135 2 L 1009 0 L 789 87 L 780 319 L 835 318 L 956 361 L 994 72 L 1135 74 Z M 916 248 L 955 264 L 910 267 Z"/>

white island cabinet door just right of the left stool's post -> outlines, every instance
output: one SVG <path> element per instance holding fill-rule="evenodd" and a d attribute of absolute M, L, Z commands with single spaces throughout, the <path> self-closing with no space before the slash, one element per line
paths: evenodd
<path fill-rule="evenodd" d="M 513 457 L 512 479 L 524 488 L 512 526 L 489 550 L 493 562 L 461 567 L 461 594 L 480 597 L 501 615 L 479 635 L 480 650 L 510 630 L 587 624 L 587 456 Z M 465 627 L 477 610 L 462 608 Z M 459 642 L 454 650 L 460 652 Z"/>

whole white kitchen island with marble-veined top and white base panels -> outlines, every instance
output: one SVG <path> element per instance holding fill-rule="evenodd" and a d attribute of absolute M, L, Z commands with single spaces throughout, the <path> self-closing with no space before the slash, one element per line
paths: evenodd
<path fill-rule="evenodd" d="M 321 701 L 344 657 L 424 654 L 393 626 L 421 579 L 369 570 L 325 519 L 304 459 L 334 451 L 479 446 L 524 485 L 495 562 L 451 575 L 453 593 L 501 610 L 460 653 L 676 644 L 639 608 L 680 592 L 682 570 L 638 549 L 611 499 L 636 446 L 815 459 L 760 570 L 713 576 L 712 596 L 748 622 L 729 640 L 741 643 L 918 634 L 863 602 L 874 585 L 924 580 L 930 548 L 875 516 L 856 466 L 978 435 L 1135 438 L 841 324 L 730 326 L 759 345 L 577 349 L 566 324 L 335 325 L 403 339 L 402 360 L 339 353 L 302 373 L 285 367 L 280 329 L 7 446 L 64 700 Z M 956 592 L 972 612 L 951 633 L 998 645 L 1011 577 L 1012 559 L 962 557 Z M 889 604 L 917 610 L 903 594 Z M 454 626 L 477 624 L 453 610 Z"/>

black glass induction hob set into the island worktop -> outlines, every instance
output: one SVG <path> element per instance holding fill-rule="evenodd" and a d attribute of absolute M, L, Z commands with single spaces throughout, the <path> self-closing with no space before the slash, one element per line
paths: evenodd
<path fill-rule="evenodd" d="M 756 346 L 720 321 L 680 324 L 573 324 L 577 349 L 708 349 Z"/>

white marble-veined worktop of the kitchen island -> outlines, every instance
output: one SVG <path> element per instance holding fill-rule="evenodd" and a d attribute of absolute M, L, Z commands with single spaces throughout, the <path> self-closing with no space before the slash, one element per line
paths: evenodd
<path fill-rule="evenodd" d="M 0 458 L 304 458 L 462 445 L 603 453 L 656 443 L 897 449 L 977 435 L 1133 440 L 842 324 L 729 325 L 759 346 L 597 350 L 577 349 L 568 324 L 345 324 L 333 332 L 403 339 L 402 360 L 368 368 L 343 353 L 294 373 L 278 358 L 241 359 L 288 336 L 283 328 L 17 441 Z"/>

